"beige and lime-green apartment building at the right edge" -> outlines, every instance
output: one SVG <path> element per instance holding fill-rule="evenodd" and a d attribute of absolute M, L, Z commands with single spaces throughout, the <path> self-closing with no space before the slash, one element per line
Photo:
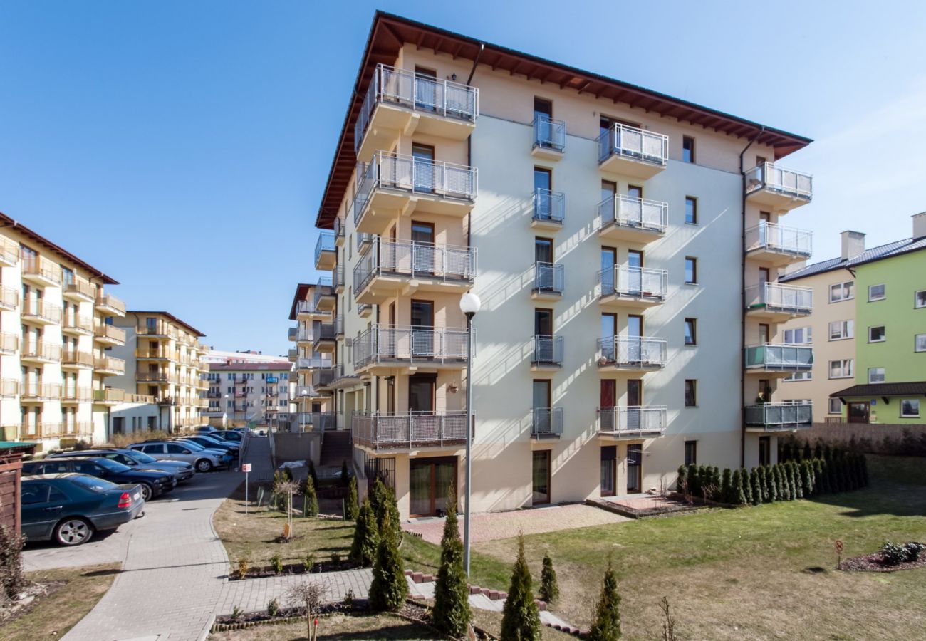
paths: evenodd
<path fill-rule="evenodd" d="M 912 219 L 910 238 L 870 249 L 864 233 L 843 232 L 839 258 L 782 278 L 821 301 L 785 323 L 787 342 L 818 338 L 812 370 L 782 383 L 818 421 L 926 422 L 926 212 Z"/>

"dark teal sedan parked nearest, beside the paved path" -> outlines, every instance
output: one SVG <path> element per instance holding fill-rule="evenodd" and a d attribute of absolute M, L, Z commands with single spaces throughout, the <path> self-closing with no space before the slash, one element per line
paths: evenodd
<path fill-rule="evenodd" d="M 144 515 L 138 485 L 117 485 L 87 474 L 45 474 L 22 480 L 22 534 L 28 541 L 80 546 L 95 532 L 115 530 Z"/>

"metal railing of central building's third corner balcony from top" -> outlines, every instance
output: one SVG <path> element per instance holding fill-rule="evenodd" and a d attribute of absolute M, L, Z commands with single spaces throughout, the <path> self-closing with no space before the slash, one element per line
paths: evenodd
<path fill-rule="evenodd" d="M 476 276 L 476 249 L 376 237 L 354 268 L 355 294 L 359 295 L 377 276 L 472 283 Z"/>

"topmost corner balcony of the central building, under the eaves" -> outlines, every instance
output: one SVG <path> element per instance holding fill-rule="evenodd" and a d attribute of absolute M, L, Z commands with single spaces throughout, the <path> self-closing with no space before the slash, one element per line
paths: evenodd
<path fill-rule="evenodd" d="M 401 134 L 466 140 L 478 115 L 475 87 L 377 65 L 354 125 L 354 151 L 368 158 Z"/>

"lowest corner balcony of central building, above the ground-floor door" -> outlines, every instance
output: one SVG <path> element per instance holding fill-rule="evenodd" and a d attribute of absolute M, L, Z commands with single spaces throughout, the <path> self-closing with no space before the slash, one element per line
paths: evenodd
<path fill-rule="evenodd" d="M 372 451 L 457 449 L 466 445 L 464 412 L 354 412 L 354 444 Z"/>

